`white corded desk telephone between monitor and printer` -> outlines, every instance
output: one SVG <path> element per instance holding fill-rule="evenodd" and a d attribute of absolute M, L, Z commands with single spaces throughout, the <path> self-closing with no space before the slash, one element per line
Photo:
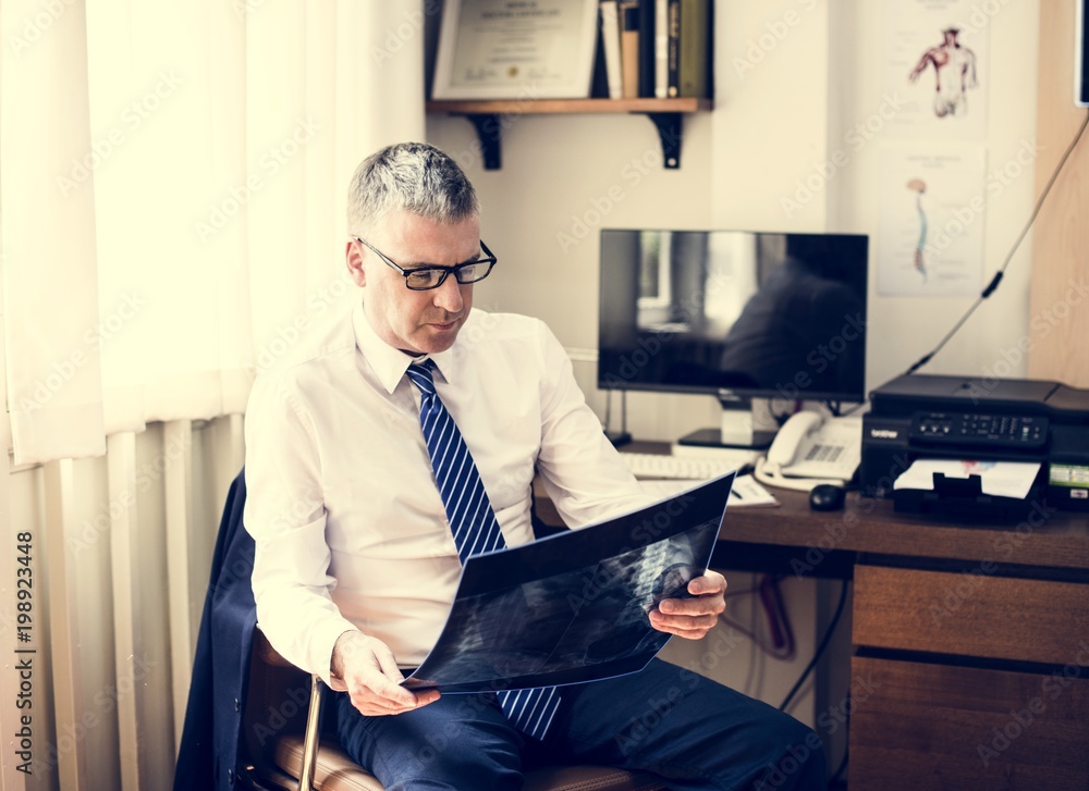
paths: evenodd
<path fill-rule="evenodd" d="M 775 434 L 767 459 L 757 461 L 761 483 L 809 491 L 819 483 L 845 485 L 862 459 L 862 419 L 792 415 Z"/>

